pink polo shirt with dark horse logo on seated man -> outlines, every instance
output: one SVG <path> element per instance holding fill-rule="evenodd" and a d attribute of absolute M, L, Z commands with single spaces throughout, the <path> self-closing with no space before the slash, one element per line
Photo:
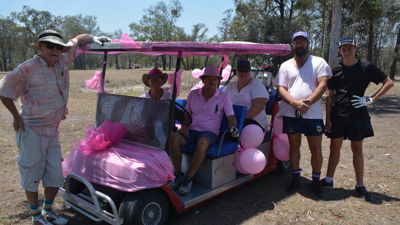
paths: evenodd
<path fill-rule="evenodd" d="M 193 123 L 188 125 L 188 129 L 211 131 L 218 135 L 224 113 L 227 117 L 234 115 L 232 101 L 228 94 L 216 90 L 206 102 L 202 95 L 203 88 L 189 92 L 185 108 L 192 116 Z"/>

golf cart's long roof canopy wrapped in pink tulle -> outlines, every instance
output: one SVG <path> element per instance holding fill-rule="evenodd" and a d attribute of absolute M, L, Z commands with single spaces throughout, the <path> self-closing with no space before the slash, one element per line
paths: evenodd
<path fill-rule="evenodd" d="M 135 42 L 128 35 L 113 42 L 81 45 L 78 53 L 88 52 L 103 54 L 116 54 L 123 52 L 141 53 L 146 55 L 169 55 L 177 58 L 188 56 L 214 56 L 215 54 L 274 54 L 284 56 L 290 54 L 289 44 L 257 44 L 252 42 Z"/>

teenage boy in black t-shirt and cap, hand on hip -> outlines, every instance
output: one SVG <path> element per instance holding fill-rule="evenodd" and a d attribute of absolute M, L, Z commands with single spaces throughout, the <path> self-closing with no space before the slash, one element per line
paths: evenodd
<path fill-rule="evenodd" d="M 342 37 L 338 48 L 338 57 L 342 62 L 332 67 L 333 77 L 328 80 L 326 96 L 325 135 L 330 138 L 330 155 L 326 177 L 321 180 L 321 185 L 324 188 L 333 188 L 333 175 L 339 163 L 340 148 L 343 140 L 348 139 L 351 141 L 353 166 L 356 172 L 355 191 L 370 201 L 372 195 L 363 185 L 362 141 L 366 137 L 374 136 L 374 131 L 365 106 L 382 97 L 393 86 L 393 81 L 372 62 L 356 58 L 358 45 L 352 36 Z M 372 96 L 363 97 L 370 82 L 383 85 Z"/>

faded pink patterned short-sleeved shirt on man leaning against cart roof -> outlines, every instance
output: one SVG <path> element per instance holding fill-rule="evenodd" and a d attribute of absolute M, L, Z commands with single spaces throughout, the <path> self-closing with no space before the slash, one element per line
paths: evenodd
<path fill-rule="evenodd" d="M 0 80 L 0 95 L 20 100 L 24 125 L 43 136 L 55 136 L 60 121 L 68 114 L 69 68 L 76 57 L 78 41 L 68 42 L 69 52 L 60 54 L 54 67 L 40 54 L 22 62 Z"/>

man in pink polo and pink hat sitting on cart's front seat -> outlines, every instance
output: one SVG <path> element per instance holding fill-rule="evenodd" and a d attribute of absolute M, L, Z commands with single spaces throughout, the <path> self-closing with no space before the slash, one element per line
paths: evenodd
<path fill-rule="evenodd" d="M 192 179 L 200 165 L 206 159 L 207 149 L 218 141 L 218 133 L 224 114 L 228 117 L 230 132 L 233 137 L 239 136 L 236 128 L 236 118 L 232 108 L 232 101 L 228 94 L 217 89 L 222 79 L 215 65 L 208 65 L 200 76 L 204 86 L 192 90 L 187 99 L 185 108 L 192 116 L 191 125 L 182 124 L 182 128 L 172 134 L 170 140 L 170 156 L 175 168 L 175 180 L 169 185 L 172 189 L 178 189 L 181 194 L 189 194 L 192 189 Z M 197 144 L 193 155 L 189 173 L 182 173 L 182 152 L 180 147 L 192 143 Z"/>

